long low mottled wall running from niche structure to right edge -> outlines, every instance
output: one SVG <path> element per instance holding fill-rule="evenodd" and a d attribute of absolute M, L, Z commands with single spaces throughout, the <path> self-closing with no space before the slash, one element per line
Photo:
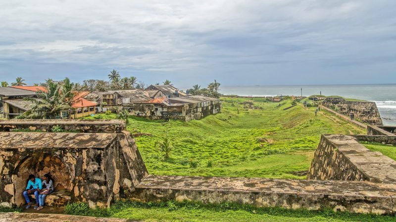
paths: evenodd
<path fill-rule="evenodd" d="M 224 201 L 256 207 L 392 214 L 396 184 L 263 178 L 149 175 L 136 187 L 141 201 Z"/>

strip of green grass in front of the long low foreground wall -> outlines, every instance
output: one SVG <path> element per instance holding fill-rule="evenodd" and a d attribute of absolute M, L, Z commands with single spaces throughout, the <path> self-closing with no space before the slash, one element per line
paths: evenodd
<path fill-rule="evenodd" d="M 65 213 L 94 217 L 115 217 L 147 222 L 386 222 L 394 216 L 335 213 L 332 210 L 308 211 L 282 208 L 256 208 L 232 203 L 205 205 L 198 202 L 116 202 L 108 209 L 89 209 L 87 204 L 73 203 Z"/>

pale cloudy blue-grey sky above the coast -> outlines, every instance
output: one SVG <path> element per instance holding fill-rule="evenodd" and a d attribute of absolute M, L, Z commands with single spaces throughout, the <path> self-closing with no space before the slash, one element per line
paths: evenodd
<path fill-rule="evenodd" d="M 395 0 L 0 1 L 0 81 L 396 83 Z"/>

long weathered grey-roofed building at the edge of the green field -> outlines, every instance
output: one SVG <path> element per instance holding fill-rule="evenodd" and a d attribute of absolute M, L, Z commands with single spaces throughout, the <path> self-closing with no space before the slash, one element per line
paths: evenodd
<path fill-rule="evenodd" d="M 219 99 L 203 96 L 185 96 L 180 98 L 156 98 L 147 102 L 124 106 L 131 115 L 150 119 L 181 119 L 189 121 L 201 119 L 221 110 Z"/>

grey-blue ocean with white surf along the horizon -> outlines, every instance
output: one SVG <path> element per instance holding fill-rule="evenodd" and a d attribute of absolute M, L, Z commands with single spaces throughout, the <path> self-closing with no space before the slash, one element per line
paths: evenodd
<path fill-rule="evenodd" d="M 384 125 L 396 126 L 396 84 L 296 85 L 296 86 L 221 86 L 220 93 L 239 96 L 342 96 L 377 104 Z"/>

